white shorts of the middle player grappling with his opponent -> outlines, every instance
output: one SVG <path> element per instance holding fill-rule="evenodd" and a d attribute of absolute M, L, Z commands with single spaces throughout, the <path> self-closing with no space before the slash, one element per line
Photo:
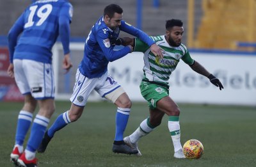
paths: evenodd
<path fill-rule="evenodd" d="M 83 76 L 79 69 L 76 72 L 76 83 L 73 89 L 70 101 L 76 106 L 85 106 L 90 93 L 95 90 L 101 97 L 104 97 L 112 102 L 125 91 L 108 72 L 101 77 L 88 78 Z"/>

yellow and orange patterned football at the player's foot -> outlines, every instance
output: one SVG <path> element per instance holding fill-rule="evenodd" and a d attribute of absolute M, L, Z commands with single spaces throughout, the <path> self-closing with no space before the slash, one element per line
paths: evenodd
<path fill-rule="evenodd" d="M 199 159 L 204 153 L 204 146 L 197 139 L 189 139 L 183 145 L 183 152 L 188 159 Z"/>

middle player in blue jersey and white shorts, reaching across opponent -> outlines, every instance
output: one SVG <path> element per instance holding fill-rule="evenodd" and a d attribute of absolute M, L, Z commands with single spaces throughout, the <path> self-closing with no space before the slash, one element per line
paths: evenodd
<path fill-rule="evenodd" d="M 122 13 L 123 10 L 120 6 L 109 4 L 104 9 L 104 15 L 92 27 L 84 45 L 83 60 L 77 69 L 76 83 L 70 98 L 71 107 L 67 112 L 58 116 L 49 130 L 45 132 L 45 137 L 38 148 L 38 152 L 45 151 L 56 131 L 59 131 L 68 123 L 75 122 L 82 115 L 90 93 L 95 90 L 101 97 L 110 100 L 117 106 L 113 152 L 122 154 L 138 153 L 137 150 L 125 145 L 123 139 L 131 111 L 131 100 L 120 84 L 108 74 L 109 61 L 122 58 L 133 48 L 131 45 L 127 45 L 120 51 L 114 51 L 114 45 L 110 44 L 109 39 L 111 37 L 117 38 L 120 31 L 125 31 L 140 38 L 156 54 L 162 54 L 162 52 L 160 47 L 147 34 L 122 20 Z"/>

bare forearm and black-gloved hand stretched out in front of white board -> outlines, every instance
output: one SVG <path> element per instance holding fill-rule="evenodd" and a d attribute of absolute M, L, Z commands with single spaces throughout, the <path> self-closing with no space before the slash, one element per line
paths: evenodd
<path fill-rule="evenodd" d="M 219 87 L 220 90 L 224 88 L 223 85 L 221 84 L 220 80 L 218 78 L 216 78 L 215 76 L 213 76 L 210 72 L 208 72 L 197 61 L 194 60 L 194 63 L 189 66 L 192 68 L 192 70 L 194 70 L 198 74 L 202 74 L 203 76 L 208 77 L 210 79 L 211 83 L 214 84 L 215 86 Z"/>

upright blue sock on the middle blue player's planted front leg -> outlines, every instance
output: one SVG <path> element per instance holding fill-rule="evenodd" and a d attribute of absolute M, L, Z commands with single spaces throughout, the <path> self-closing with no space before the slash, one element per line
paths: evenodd
<path fill-rule="evenodd" d="M 131 109 L 129 108 L 117 108 L 115 141 L 122 141 L 124 139 L 124 130 L 129 119 L 130 111 Z"/>

